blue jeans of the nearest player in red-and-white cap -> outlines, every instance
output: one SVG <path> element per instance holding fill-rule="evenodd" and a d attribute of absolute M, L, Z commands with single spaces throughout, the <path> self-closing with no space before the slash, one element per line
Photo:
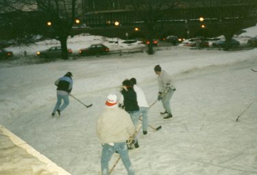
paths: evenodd
<path fill-rule="evenodd" d="M 101 152 L 101 174 L 109 175 L 109 161 L 112 154 L 117 151 L 121 156 L 121 161 L 127 170 L 128 175 L 134 175 L 135 172 L 132 170 L 132 163 L 130 162 L 130 157 L 127 151 L 127 143 L 114 143 L 114 145 L 109 145 L 105 143 L 103 145 L 103 150 Z"/>

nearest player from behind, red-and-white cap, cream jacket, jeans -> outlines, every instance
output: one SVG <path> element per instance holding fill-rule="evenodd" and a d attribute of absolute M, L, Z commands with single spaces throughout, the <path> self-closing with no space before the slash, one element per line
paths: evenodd
<path fill-rule="evenodd" d="M 97 120 L 97 137 L 103 145 L 101 152 L 101 173 L 109 174 L 109 161 L 118 152 L 128 175 L 134 175 L 132 163 L 127 151 L 126 140 L 131 137 L 136 128 L 130 115 L 118 107 L 117 95 L 110 94 L 106 100 L 106 108 Z"/>

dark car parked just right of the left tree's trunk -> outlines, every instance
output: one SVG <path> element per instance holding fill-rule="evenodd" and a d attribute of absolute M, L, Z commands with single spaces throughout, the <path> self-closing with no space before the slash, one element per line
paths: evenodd
<path fill-rule="evenodd" d="M 108 47 L 103 44 L 90 45 L 86 49 L 80 49 L 79 55 L 81 56 L 93 56 L 99 54 L 107 54 L 110 51 Z"/>

